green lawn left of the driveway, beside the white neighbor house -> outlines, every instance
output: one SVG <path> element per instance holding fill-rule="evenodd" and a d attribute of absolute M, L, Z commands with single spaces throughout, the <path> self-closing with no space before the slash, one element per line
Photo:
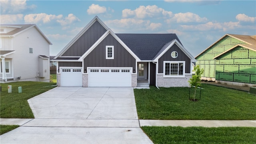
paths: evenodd
<path fill-rule="evenodd" d="M 8 86 L 12 86 L 12 93 L 8 93 Z M 28 99 L 54 88 L 56 83 L 50 82 L 11 82 L 1 84 L 0 117 L 1 118 L 34 118 L 28 104 Z M 22 86 L 22 93 L 18 87 Z M 44 87 L 48 86 L 48 87 Z"/>

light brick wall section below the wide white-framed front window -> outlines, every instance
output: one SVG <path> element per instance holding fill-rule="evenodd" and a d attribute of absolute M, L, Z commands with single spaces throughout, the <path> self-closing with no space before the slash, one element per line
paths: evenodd
<path fill-rule="evenodd" d="M 188 80 L 192 75 L 185 75 L 185 78 L 164 78 L 164 75 L 157 75 L 158 87 L 190 87 Z"/>

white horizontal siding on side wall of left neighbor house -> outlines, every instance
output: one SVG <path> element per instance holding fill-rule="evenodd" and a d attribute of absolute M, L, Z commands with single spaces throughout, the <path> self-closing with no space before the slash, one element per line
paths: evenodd
<path fill-rule="evenodd" d="M 21 76 L 21 80 L 50 81 L 50 66 L 47 68 L 48 76 L 39 78 L 39 55 L 50 57 L 49 43 L 42 37 L 35 27 L 30 28 L 12 38 L 13 50 L 16 52 L 8 57 L 13 58 L 14 80 Z M 33 53 L 29 53 L 33 48 Z M 7 57 L 6 57 L 7 58 Z M 48 60 L 48 63 L 50 61 Z"/>

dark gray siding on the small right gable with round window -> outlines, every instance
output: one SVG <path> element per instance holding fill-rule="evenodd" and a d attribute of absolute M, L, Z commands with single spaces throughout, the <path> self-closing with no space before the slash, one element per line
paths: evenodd
<path fill-rule="evenodd" d="M 173 51 L 178 52 L 178 57 L 177 58 L 172 58 L 171 53 Z M 185 73 L 190 73 L 190 66 L 191 66 L 191 60 L 190 58 L 182 52 L 182 50 L 174 44 L 165 54 L 163 54 L 159 60 L 158 60 L 158 73 L 163 74 L 163 66 L 164 66 L 164 61 L 185 61 Z"/>

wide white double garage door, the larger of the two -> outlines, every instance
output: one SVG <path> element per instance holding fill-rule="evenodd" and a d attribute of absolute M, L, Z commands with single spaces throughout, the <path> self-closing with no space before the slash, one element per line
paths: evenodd
<path fill-rule="evenodd" d="M 131 87 L 132 68 L 88 68 L 89 87 Z"/>

